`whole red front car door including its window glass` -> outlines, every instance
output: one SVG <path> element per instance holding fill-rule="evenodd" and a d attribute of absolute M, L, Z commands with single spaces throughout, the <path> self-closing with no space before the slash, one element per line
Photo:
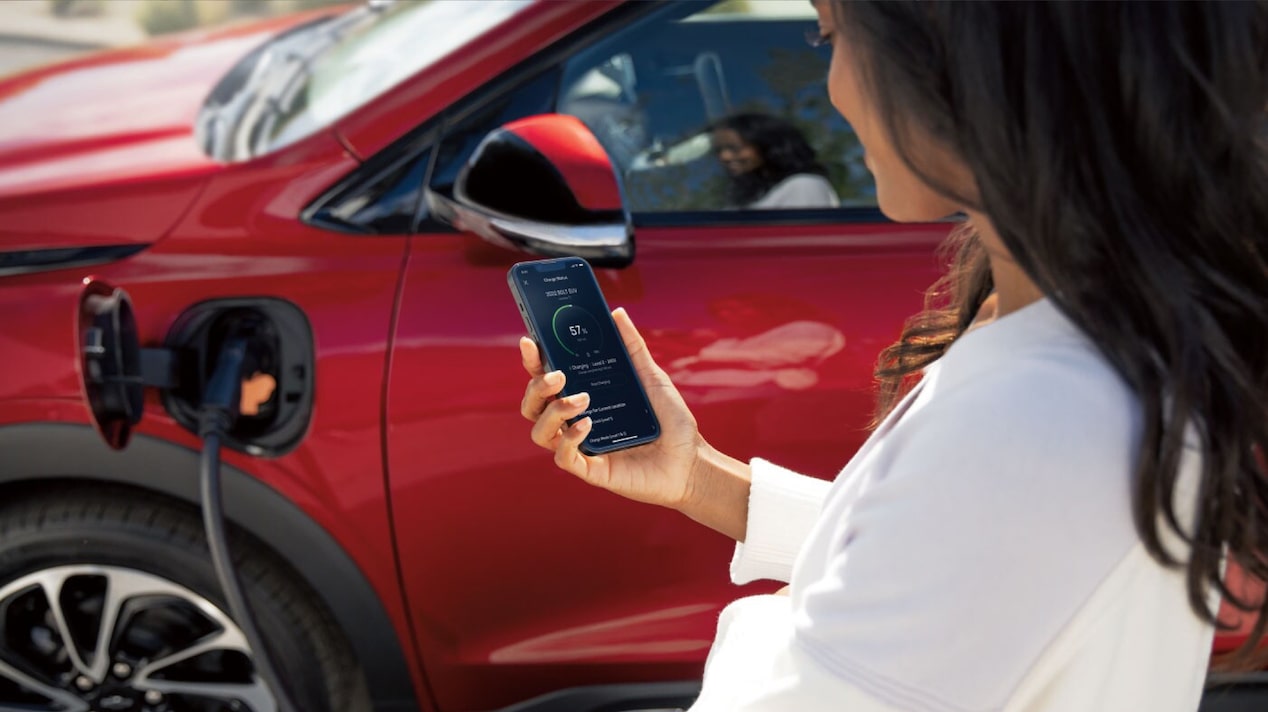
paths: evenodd
<path fill-rule="evenodd" d="M 866 435 L 876 355 L 921 307 L 948 226 L 895 226 L 871 207 L 857 143 L 827 103 L 827 54 L 803 39 L 813 9 L 775 5 L 614 13 L 420 129 L 431 134 L 416 152 L 444 191 L 496 127 L 582 118 L 621 170 L 634 224 L 633 264 L 597 270 L 609 303 L 630 312 L 718 447 L 828 478 Z M 725 204 L 705 128 L 753 105 L 804 127 L 841 201 Z M 440 708 L 696 679 L 719 608 L 741 594 L 733 542 L 588 488 L 529 441 L 506 286 L 525 258 L 425 217 L 399 295 L 388 476 Z"/>

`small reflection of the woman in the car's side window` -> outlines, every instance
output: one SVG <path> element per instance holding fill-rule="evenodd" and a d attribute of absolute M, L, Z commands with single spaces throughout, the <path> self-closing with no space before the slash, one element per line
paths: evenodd
<path fill-rule="evenodd" d="M 735 208 L 839 208 L 828 170 L 792 124 L 767 114 L 735 114 L 710 133 L 718 161 L 730 177 Z"/>

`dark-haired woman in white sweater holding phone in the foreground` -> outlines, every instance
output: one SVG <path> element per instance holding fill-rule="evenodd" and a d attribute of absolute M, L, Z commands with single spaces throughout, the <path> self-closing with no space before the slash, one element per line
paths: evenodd
<path fill-rule="evenodd" d="M 881 210 L 967 215 L 872 436 L 831 485 L 728 457 L 618 309 L 661 440 L 581 455 L 524 341 L 533 440 L 790 582 L 724 609 L 694 709 L 1194 709 L 1220 595 L 1268 623 L 1224 588 L 1268 574 L 1268 8 L 817 8 Z"/>

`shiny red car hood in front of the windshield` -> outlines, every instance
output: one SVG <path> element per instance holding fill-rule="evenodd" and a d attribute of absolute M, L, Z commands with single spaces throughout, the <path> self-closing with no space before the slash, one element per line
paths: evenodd
<path fill-rule="evenodd" d="M 321 14 L 330 10 L 184 33 L 0 81 L 0 250 L 160 237 L 223 167 L 194 139 L 212 87 L 251 49 Z"/>

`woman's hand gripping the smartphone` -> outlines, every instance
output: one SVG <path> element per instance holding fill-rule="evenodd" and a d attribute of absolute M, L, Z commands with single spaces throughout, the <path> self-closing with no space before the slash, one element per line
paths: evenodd
<path fill-rule="evenodd" d="M 527 337 L 520 338 L 520 357 L 531 379 L 520 412 L 533 421 L 533 442 L 554 452 L 555 464 L 564 471 L 621 497 L 685 511 L 692 500 L 701 452 L 709 446 L 700 437 L 696 419 L 678 389 L 652 360 L 625 310 L 612 312 L 612 319 L 661 422 L 661 437 L 606 455 L 583 455 L 579 446 L 590 435 L 592 422 L 587 417 L 568 426 L 567 421 L 590 408 L 590 394 L 557 398 L 566 376 L 562 371 L 545 372 L 538 347 Z"/>

